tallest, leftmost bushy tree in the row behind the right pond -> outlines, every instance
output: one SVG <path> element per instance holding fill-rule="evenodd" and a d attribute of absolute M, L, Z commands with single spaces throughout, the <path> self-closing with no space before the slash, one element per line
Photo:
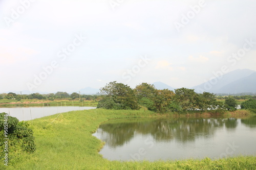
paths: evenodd
<path fill-rule="evenodd" d="M 139 109 L 134 90 L 130 86 L 114 81 L 101 88 L 100 92 L 105 96 L 97 108 Z"/>

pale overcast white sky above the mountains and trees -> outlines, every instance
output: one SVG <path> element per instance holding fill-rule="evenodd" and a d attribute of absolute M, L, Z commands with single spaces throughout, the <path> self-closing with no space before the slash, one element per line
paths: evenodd
<path fill-rule="evenodd" d="M 0 0 L 0 92 L 193 87 L 256 70 L 256 1 Z"/>

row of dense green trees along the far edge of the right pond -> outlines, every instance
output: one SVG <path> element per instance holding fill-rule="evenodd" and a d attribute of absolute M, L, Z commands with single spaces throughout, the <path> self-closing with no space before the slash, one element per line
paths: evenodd
<path fill-rule="evenodd" d="M 141 83 L 134 89 L 122 83 L 110 82 L 100 89 L 104 98 L 97 108 L 105 109 L 139 109 L 144 106 L 156 112 L 187 112 L 188 110 L 236 110 L 236 100 L 229 97 L 225 103 L 216 100 L 213 93 L 196 93 L 194 89 L 179 88 L 175 92 L 158 90 L 154 85 Z"/>

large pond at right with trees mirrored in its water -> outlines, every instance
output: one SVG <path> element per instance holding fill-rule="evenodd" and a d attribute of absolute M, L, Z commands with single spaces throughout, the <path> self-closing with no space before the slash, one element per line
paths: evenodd
<path fill-rule="evenodd" d="M 180 160 L 256 154 L 256 116 L 110 120 L 93 134 L 109 160 Z"/>

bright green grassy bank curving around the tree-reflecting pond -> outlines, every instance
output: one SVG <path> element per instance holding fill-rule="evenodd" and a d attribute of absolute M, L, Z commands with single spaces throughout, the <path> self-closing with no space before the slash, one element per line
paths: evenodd
<path fill-rule="evenodd" d="M 72 111 L 29 121 L 36 151 L 11 159 L 8 169 L 255 169 L 256 157 L 228 159 L 120 162 L 103 159 L 103 143 L 92 133 L 100 123 L 113 118 L 156 117 L 151 111 L 93 109 Z M 51 124 L 51 122 L 54 122 Z M 0 169 L 4 169 L 3 163 Z"/>

